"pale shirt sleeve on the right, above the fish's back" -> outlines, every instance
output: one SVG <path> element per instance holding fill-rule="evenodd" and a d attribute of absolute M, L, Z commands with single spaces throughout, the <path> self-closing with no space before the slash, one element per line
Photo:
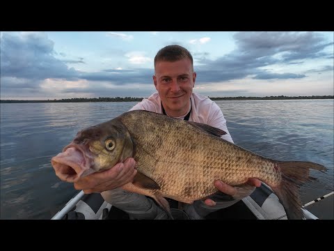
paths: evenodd
<path fill-rule="evenodd" d="M 221 138 L 234 144 L 232 136 L 228 131 L 228 126 L 226 126 L 226 119 L 224 118 L 223 112 L 215 102 L 212 102 L 212 107 L 210 109 L 209 120 L 207 124 L 209 126 L 214 126 L 215 128 L 219 128 L 226 132 L 226 134 L 221 136 Z"/>

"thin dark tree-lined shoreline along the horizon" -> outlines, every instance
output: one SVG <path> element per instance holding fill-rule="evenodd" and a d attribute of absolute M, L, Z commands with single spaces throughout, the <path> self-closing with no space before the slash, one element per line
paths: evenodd
<path fill-rule="evenodd" d="M 267 96 L 267 97 L 209 97 L 211 100 L 301 100 L 301 99 L 334 99 L 334 96 Z M 0 100 L 0 103 L 31 102 L 140 102 L 143 98 L 63 98 L 61 100 Z"/>

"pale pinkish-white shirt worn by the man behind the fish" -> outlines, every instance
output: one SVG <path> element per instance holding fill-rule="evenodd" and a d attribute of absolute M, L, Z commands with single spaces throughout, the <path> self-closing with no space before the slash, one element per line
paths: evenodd
<path fill-rule="evenodd" d="M 146 111 L 162 114 L 161 99 L 159 94 L 155 92 L 150 97 L 144 98 L 141 102 L 138 102 L 138 104 L 134 105 L 130 111 L 136 109 L 143 109 Z M 186 116 L 186 114 L 184 114 L 184 116 Z M 183 119 L 184 116 L 180 117 L 179 119 Z M 224 118 L 223 112 L 221 112 L 221 108 L 218 107 L 216 102 L 210 100 L 206 96 L 202 96 L 197 93 L 191 94 L 191 114 L 189 121 L 205 123 L 209 126 L 219 128 L 226 132 L 226 134 L 221 137 L 228 142 L 234 143 L 230 132 L 228 132 L 226 120 Z"/>

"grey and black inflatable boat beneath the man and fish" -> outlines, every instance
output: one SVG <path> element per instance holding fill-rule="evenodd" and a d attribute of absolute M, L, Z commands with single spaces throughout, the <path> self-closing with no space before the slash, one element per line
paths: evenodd
<path fill-rule="evenodd" d="M 331 194 L 328 195 L 332 195 Z M 319 198 L 321 199 L 321 198 Z M 318 199 L 318 200 L 319 200 Z M 172 215 L 175 220 L 186 220 L 186 213 L 173 206 L 170 202 Z M 174 201 L 175 202 L 175 201 Z M 177 201 L 176 201 L 177 202 Z M 312 203 L 312 202 L 310 202 Z M 305 207 L 305 205 L 303 205 Z M 305 208 L 301 208 L 304 220 L 317 220 L 317 216 Z M 104 201 L 100 193 L 85 195 L 80 191 L 72 197 L 65 206 L 54 215 L 51 220 L 129 220 L 129 215 L 124 211 Z M 265 183 L 248 197 L 241 199 L 236 204 L 223 208 L 206 217 L 207 220 L 287 220 L 283 205 L 271 188 Z"/>

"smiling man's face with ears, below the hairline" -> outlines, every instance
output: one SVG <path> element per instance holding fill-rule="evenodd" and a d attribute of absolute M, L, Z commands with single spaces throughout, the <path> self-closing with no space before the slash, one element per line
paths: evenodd
<path fill-rule="evenodd" d="M 156 63 L 154 86 L 168 115 L 182 116 L 187 112 L 195 80 L 190 59 Z"/>

